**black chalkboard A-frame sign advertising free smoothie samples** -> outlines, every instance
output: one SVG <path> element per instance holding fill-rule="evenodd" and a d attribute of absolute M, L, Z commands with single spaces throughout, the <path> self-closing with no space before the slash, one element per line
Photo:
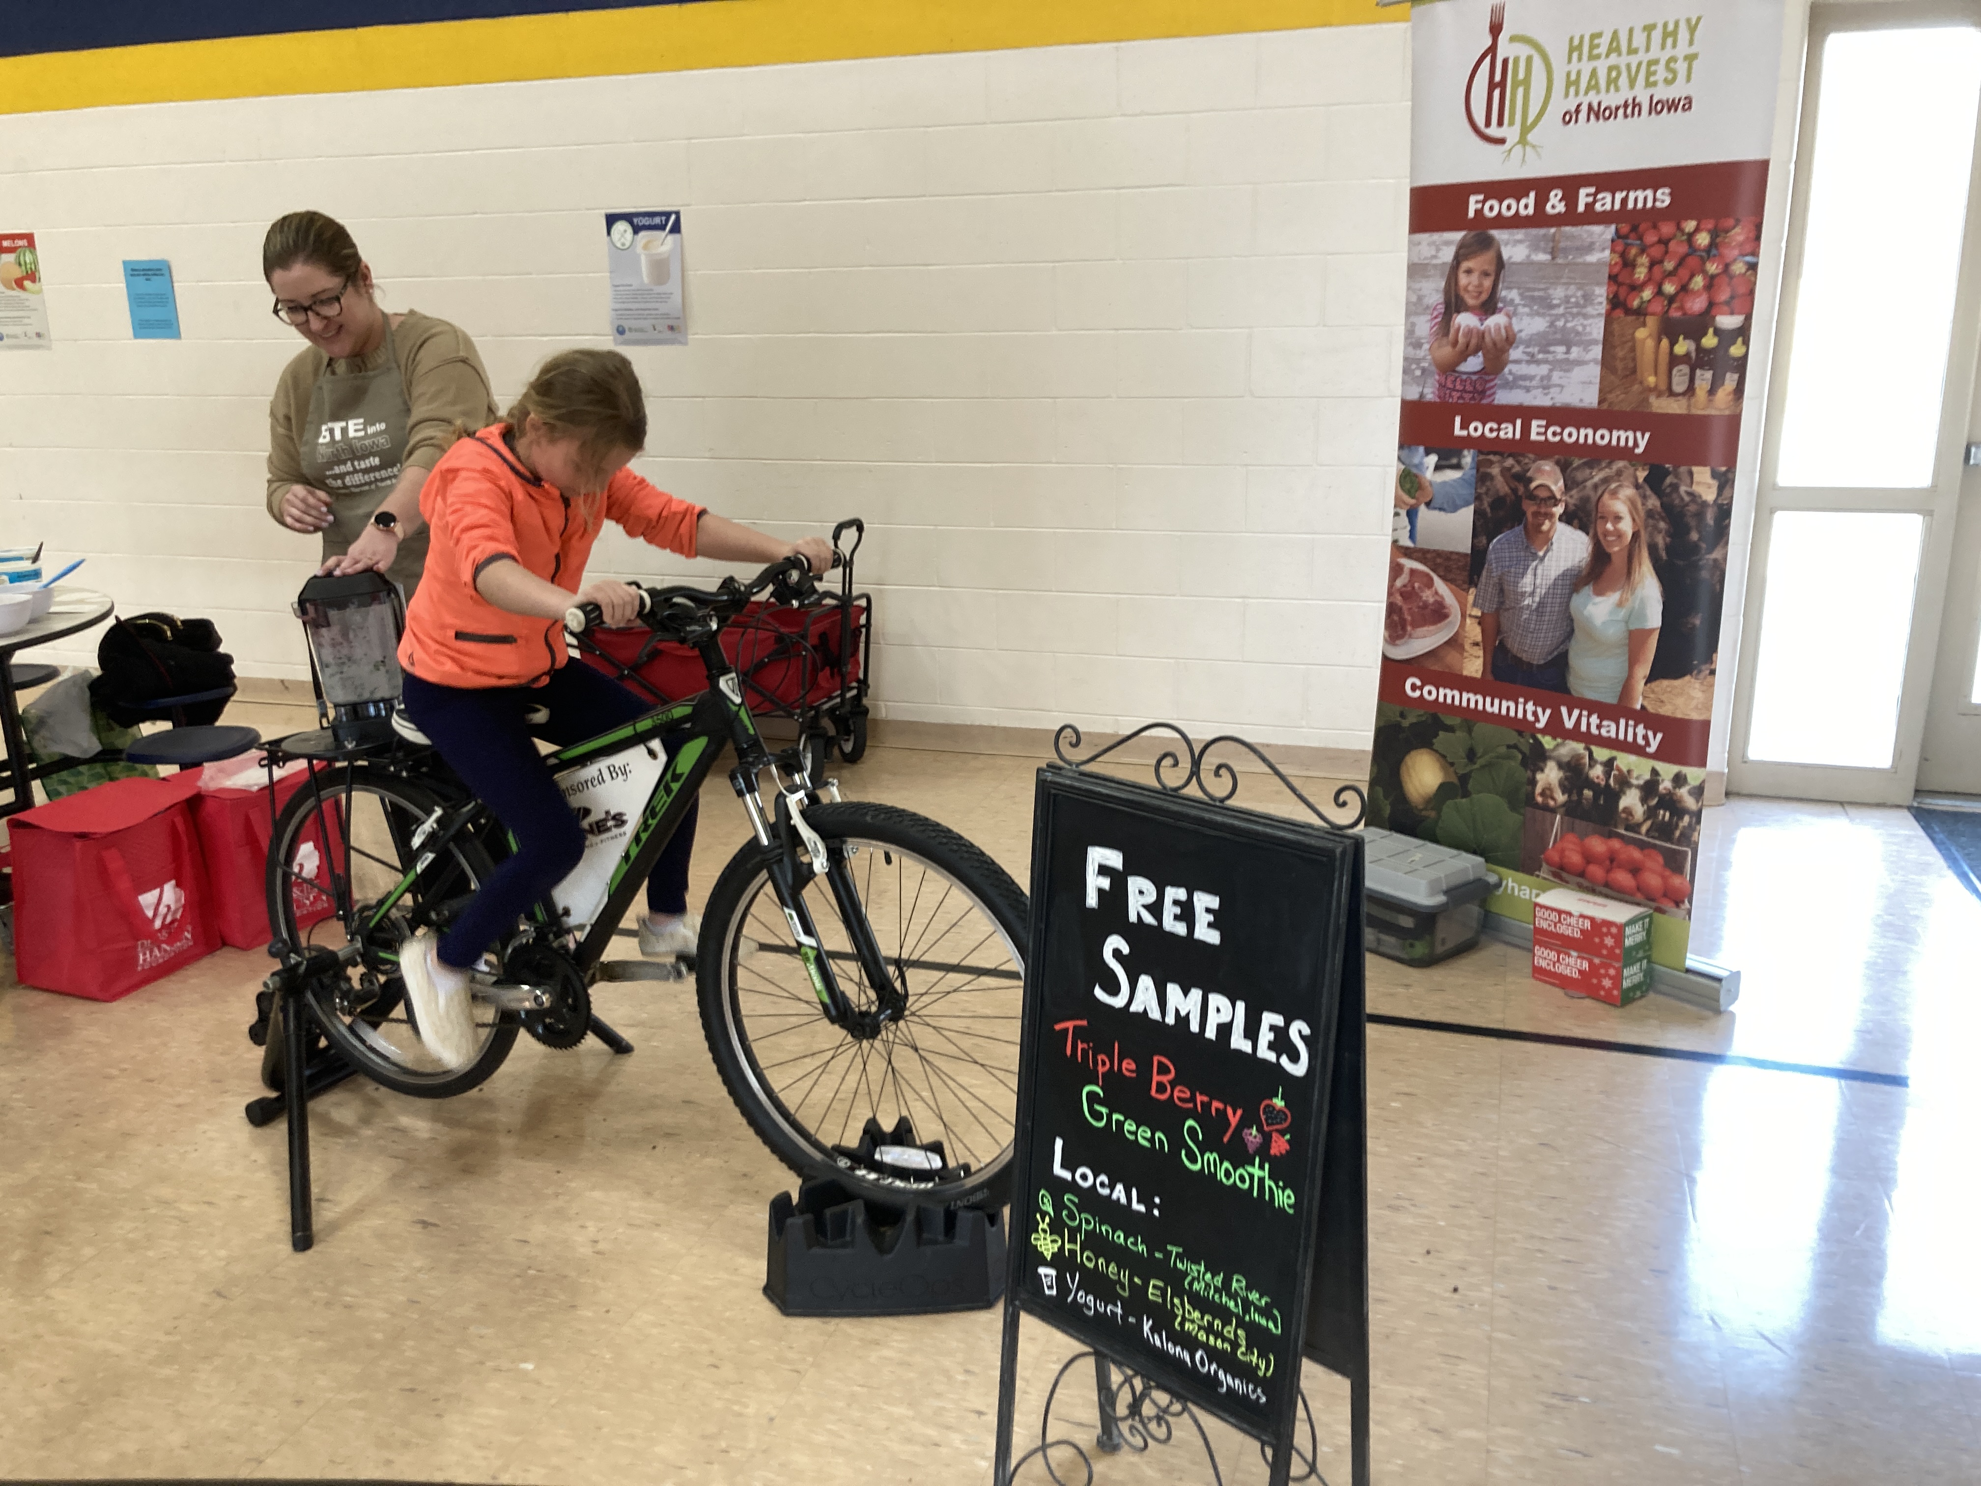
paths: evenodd
<path fill-rule="evenodd" d="M 998 1397 L 1026 1312 L 1272 1446 L 1311 1355 L 1367 1480 L 1361 838 L 1048 765 Z"/>

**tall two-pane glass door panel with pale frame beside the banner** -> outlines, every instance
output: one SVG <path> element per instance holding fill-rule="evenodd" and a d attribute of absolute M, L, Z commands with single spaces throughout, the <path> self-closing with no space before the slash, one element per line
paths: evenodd
<path fill-rule="evenodd" d="M 1981 4 L 1811 12 L 1739 793 L 1912 798 L 1981 341 L 1977 113 Z"/>

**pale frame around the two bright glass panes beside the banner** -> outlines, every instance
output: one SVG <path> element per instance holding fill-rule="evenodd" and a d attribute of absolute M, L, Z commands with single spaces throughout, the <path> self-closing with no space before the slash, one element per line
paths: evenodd
<path fill-rule="evenodd" d="M 1775 345 L 1769 357 L 1767 414 L 1761 434 L 1761 472 L 1755 481 L 1753 543 L 1749 547 L 1747 592 L 1741 614 L 1739 664 L 1735 668 L 1733 727 L 1727 749 L 1727 785 L 1741 795 L 1781 795 L 1791 798 L 1840 800 L 1850 804 L 1906 804 L 1912 800 L 1920 769 L 1926 699 L 1939 648 L 1941 608 L 1953 553 L 1953 525 L 1961 493 L 1961 452 L 1967 444 L 1967 416 L 1975 394 L 1975 359 L 1981 355 L 1981 131 L 1977 131 L 1967 180 L 1967 228 L 1961 244 L 1959 283 L 1953 297 L 1953 333 L 1947 341 L 1947 369 L 1933 485 L 1910 491 L 1866 491 L 1775 485 L 1781 448 L 1783 408 L 1793 365 L 1795 317 L 1801 297 L 1805 228 L 1815 147 L 1817 111 L 1823 101 L 1821 48 L 1838 32 L 1900 30 L 1967 24 L 1981 30 L 1981 0 L 1852 0 L 1813 4 L 1803 61 L 1803 105 L 1789 194 L 1789 238 L 1783 256 Z M 1767 604 L 1767 559 L 1773 547 L 1777 511 L 1874 511 L 1918 513 L 1920 577 L 1914 588 L 1912 638 L 1900 686 L 1898 733 L 1888 769 L 1801 765 L 1747 759 L 1753 721 L 1755 660 L 1761 642 L 1761 614 Z"/>

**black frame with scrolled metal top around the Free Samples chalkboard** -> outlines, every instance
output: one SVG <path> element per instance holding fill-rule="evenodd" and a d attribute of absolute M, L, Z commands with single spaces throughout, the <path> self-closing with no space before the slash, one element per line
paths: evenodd
<path fill-rule="evenodd" d="M 1099 761 L 1107 753 L 1113 753 L 1123 743 L 1129 743 L 1147 733 L 1173 733 L 1181 741 L 1183 753 L 1175 749 L 1165 751 L 1155 759 L 1155 787 L 1137 785 L 1119 779 L 1107 779 L 1101 775 L 1082 775 L 1082 769 Z M 1319 1151 L 1309 1157 L 1309 1165 L 1317 1165 L 1317 1171 L 1309 1169 L 1307 1191 L 1317 1193 L 1317 1201 L 1311 1203 L 1309 1217 L 1302 1228 L 1302 1252 L 1296 1262 L 1296 1272 L 1302 1274 L 1302 1296 L 1296 1306 L 1296 1316 L 1300 1316 L 1300 1345 L 1296 1355 L 1309 1357 L 1333 1373 L 1339 1373 L 1349 1383 L 1349 1472 L 1353 1486 L 1369 1486 L 1369 1175 L 1367 1175 L 1367 1034 L 1365 1034 L 1365 1012 L 1367 1012 L 1367 987 L 1363 981 L 1363 846 L 1361 836 L 1351 834 L 1363 818 L 1365 800 L 1361 791 L 1353 785 L 1335 791 L 1333 802 L 1339 808 L 1353 810 L 1351 818 L 1335 820 L 1329 818 L 1313 800 L 1309 800 L 1264 753 L 1260 753 L 1252 743 L 1238 737 L 1214 737 L 1200 749 L 1193 745 L 1183 729 L 1173 723 L 1149 723 L 1133 733 L 1117 739 L 1113 745 L 1099 749 L 1088 759 L 1074 759 L 1068 749 L 1078 749 L 1082 743 L 1080 731 L 1072 725 L 1060 729 L 1054 739 L 1054 751 L 1058 753 L 1064 767 L 1048 765 L 1040 771 L 1040 802 L 1048 800 L 1050 791 L 1080 791 L 1082 795 L 1092 795 L 1097 800 L 1109 802 L 1135 802 L 1141 800 L 1149 808 L 1161 808 L 1165 800 L 1179 800 L 1189 791 L 1195 789 L 1202 800 L 1210 804 L 1226 804 L 1238 791 L 1238 775 L 1228 763 L 1216 763 L 1206 775 L 1206 755 L 1220 745 L 1234 745 L 1250 751 L 1264 767 L 1278 777 L 1278 781 L 1321 822 L 1321 828 L 1329 838 L 1345 844 L 1345 872 L 1339 878 L 1337 892 L 1333 894 L 1333 903 L 1327 905 L 1331 937 L 1337 941 L 1339 951 L 1333 965 L 1327 967 L 1327 979 L 1333 983 L 1333 1026 L 1327 1030 L 1327 1062 L 1325 1062 L 1325 1086 L 1317 1094 L 1317 1102 L 1325 1108 L 1325 1131 Z M 1175 783 L 1171 781 L 1175 775 Z M 1078 781 L 1078 783 L 1076 783 Z M 1202 822 L 1210 816 L 1200 814 L 1202 804 L 1189 800 L 1189 814 Z M 1171 806 L 1175 808 L 1175 806 Z M 1254 836 L 1276 836 L 1280 832 L 1311 832 L 1315 826 L 1303 822 L 1290 822 L 1282 816 L 1264 816 L 1252 810 L 1234 810 L 1242 814 L 1252 826 Z M 1042 945 L 1046 937 L 1046 913 L 1050 911 L 1050 902 L 1042 896 L 1040 888 L 1046 872 L 1046 828 L 1034 822 L 1034 862 L 1032 862 L 1032 943 L 1026 955 L 1028 969 L 1044 965 Z M 1028 1201 L 1026 1195 L 1032 1189 L 1032 1173 L 1028 1171 L 1028 1151 L 1030 1151 L 1030 1110 L 1034 1108 L 1034 1058 L 1032 1048 L 1038 1032 L 1036 1016 L 1040 1012 L 1042 997 L 1028 995 L 1024 1007 L 1024 1032 L 1020 1056 L 1020 1084 L 1018 1084 L 1018 1135 L 1014 1139 L 1014 1157 L 1018 1163 L 1014 1203 Z M 1006 1258 L 1006 1280 L 1004 1280 L 1004 1318 L 1002 1318 L 1002 1347 L 998 1361 L 998 1419 L 996 1419 L 996 1462 L 992 1470 L 992 1480 L 996 1486 L 1010 1486 L 1014 1474 L 1012 1462 L 1012 1429 L 1016 1415 L 1016 1371 L 1018 1371 L 1018 1329 L 1020 1316 L 1032 1314 L 1034 1318 L 1046 1322 L 1054 1329 L 1072 1335 L 1080 1341 L 1094 1345 L 1095 1361 L 1095 1381 L 1097 1381 L 1097 1403 L 1099 1403 L 1099 1423 L 1101 1433 L 1097 1444 L 1103 1450 L 1121 1448 L 1119 1427 L 1123 1423 L 1115 1415 L 1117 1401 L 1115 1389 L 1109 1383 L 1109 1357 L 1095 1345 L 1095 1337 L 1088 1333 L 1086 1327 L 1066 1326 L 1062 1316 L 1046 1314 L 1040 1306 L 1026 1298 L 1026 1288 L 1022 1284 L 1022 1268 L 1026 1260 L 1026 1242 L 1020 1232 L 1020 1215 L 1014 1211 L 1012 1222 L 1012 1242 Z M 1139 1365 L 1137 1365 L 1139 1367 Z M 1062 1369 L 1064 1377 L 1064 1369 Z M 1139 1385 L 1135 1397 L 1147 1399 L 1151 1393 L 1169 1391 L 1173 1403 L 1167 1413 L 1189 1415 L 1193 1407 L 1202 1409 L 1214 1417 L 1224 1419 L 1232 1429 L 1258 1438 L 1262 1448 L 1270 1450 L 1270 1482 L 1272 1486 L 1284 1486 L 1292 1480 L 1292 1468 L 1296 1462 L 1298 1446 L 1296 1433 L 1300 1425 L 1300 1415 L 1305 1405 L 1303 1393 L 1296 1387 L 1286 1389 L 1284 1397 L 1276 1407 L 1276 1417 L 1272 1427 L 1262 1431 L 1254 1423 L 1232 1417 L 1228 1409 L 1220 1409 L 1214 1397 L 1204 1397 L 1197 1387 L 1195 1379 L 1187 1373 L 1179 1375 L 1181 1387 L 1171 1389 L 1169 1377 L 1161 1375 L 1161 1369 L 1147 1371 L 1145 1383 Z M 1046 1434 L 1050 1433 L 1050 1413 L 1052 1401 L 1048 1399 L 1046 1415 L 1040 1431 L 1040 1446 L 1034 1452 L 1046 1448 Z M 1193 1421 L 1195 1423 L 1195 1421 Z M 1311 1417 L 1309 1417 L 1311 1429 Z M 1197 1427 L 1199 1436 L 1208 1450 L 1208 1436 L 1202 1433 L 1202 1425 Z M 1163 1434 L 1167 1438 L 1167 1431 Z M 1074 1444 L 1072 1448 L 1080 1448 Z M 1030 1454 L 1030 1452 L 1028 1452 Z M 1024 1464 L 1028 1456 L 1022 1456 L 1018 1464 Z M 1082 1458 L 1086 1452 L 1082 1450 Z M 1214 1468 L 1214 1460 L 1212 1460 Z M 1050 1462 L 1048 1462 L 1050 1470 Z M 1090 1466 L 1092 1478 L 1092 1466 Z M 1319 1478 L 1319 1464 L 1313 1458 L 1303 1460 L 1303 1474 Z M 1056 1472 L 1054 1472 L 1054 1478 Z"/>

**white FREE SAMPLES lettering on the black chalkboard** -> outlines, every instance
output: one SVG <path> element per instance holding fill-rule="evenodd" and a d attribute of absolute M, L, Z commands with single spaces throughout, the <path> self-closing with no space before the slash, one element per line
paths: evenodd
<path fill-rule="evenodd" d="M 1121 852 L 1111 846 L 1090 846 L 1086 903 L 1094 909 L 1101 907 L 1101 894 L 1111 892 L 1115 886 L 1115 880 L 1103 868 L 1119 872 L 1123 868 Z M 1163 900 L 1161 921 L 1149 911 L 1157 898 Z M 1218 909 L 1216 894 L 1189 892 L 1185 888 L 1159 890 L 1149 878 L 1129 876 L 1125 903 L 1129 923 L 1145 923 L 1151 929 L 1163 929 L 1206 945 L 1220 943 L 1214 921 Z M 1191 907 L 1189 923 L 1183 919 L 1185 905 Z M 1212 1042 L 1228 1028 L 1232 1052 L 1250 1052 L 1264 1062 L 1278 1062 L 1288 1078 L 1305 1076 L 1309 1064 L 1307 1040 L 1313 1036 L 1313 1028 L 1305 1020 L 1296 1018 L 1288 1022 L 1280 1012 L 1266 1010 L 1258 1016 L 1256 1034 L 1248 1036 L 1246 1003 L 1242 997 L 1232 999 L 1216 991 L 1206 995 L 1202 987 L 1195 985 L 1185 991 L 1177 981 L 1165 983 L 1165 989 L 1159 993 L 1153 975 L 1139 975 L 1129 983 L 1127 967 L 1121 963 L 1127 953 L 1129 943 L 1119 933 L 1109 933 L 1101 945 L 1101 961 L 1113 971 L 1115 979 L 1113 991 L 1097 981 L 1094 985 L 1094 999 L 1103 1007 L 1127 1007 L 1131 1014 L 1147 1016 L 1163 1026 L 1175 1026 L 1179 1020 L 1185 1020 L 1191 1024 L 1191 1032 Z M 1282 1036 L 1292 1044 L 1286 1052 L 1280 1050 Z"/>

